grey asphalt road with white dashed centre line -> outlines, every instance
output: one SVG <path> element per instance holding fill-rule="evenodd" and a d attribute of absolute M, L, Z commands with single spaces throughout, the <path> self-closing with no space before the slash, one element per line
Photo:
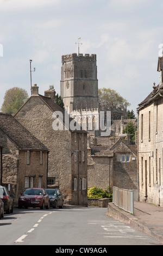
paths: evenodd
<path fill-rule="evenodd" d="M 106 208 L 18 209 L 0 220 L 0 245 L 157 245 L 137 229 L 108 217 Z"/>

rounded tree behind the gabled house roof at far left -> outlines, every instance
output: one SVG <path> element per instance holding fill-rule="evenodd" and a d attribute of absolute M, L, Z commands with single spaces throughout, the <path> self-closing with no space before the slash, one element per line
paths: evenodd
<path fill-rule="evenodd" d="M 26 90 L 13 87 L 5 92 L 1 111 L 15 114 L 27 99 L 28 93 Z"/>

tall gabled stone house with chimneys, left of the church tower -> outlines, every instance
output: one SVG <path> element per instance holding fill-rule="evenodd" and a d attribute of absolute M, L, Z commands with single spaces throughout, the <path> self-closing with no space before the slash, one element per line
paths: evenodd
<path fill-rule="evenodd" d="M 49 150 L 48 187 L 59 187 L 66 203 L 87 205 L 87 133 L 72 129 L 73 120 L 54 97 L 54 90 L 40 95 L 35 84 L 15 118 Z"/>

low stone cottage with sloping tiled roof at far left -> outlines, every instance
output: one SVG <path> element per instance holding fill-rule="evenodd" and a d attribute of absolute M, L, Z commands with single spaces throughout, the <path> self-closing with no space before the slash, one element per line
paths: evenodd
<path fill-rule="evenodd" d="M 2 185 L 16 204 L 26 188 L 47 186 L 48 149 L 10 114 L 0 113 L 0 144 Z"/>

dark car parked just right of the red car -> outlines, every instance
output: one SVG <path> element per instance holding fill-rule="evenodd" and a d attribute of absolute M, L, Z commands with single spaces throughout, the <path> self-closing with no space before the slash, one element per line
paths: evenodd
<path fill-rule="evenodd" d="M 46 192 L 48 193 L 50 199 L 50 206 L 53 208 L 63 208 L 64 207 L 64 199 L 62 194 L 58 188 L 46 188 Z"/>

